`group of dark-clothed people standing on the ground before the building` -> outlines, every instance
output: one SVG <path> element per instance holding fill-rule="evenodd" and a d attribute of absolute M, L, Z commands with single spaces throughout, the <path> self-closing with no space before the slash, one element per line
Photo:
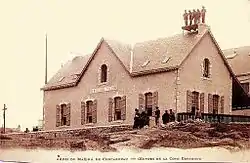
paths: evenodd
<path fill-rule="evenodd" d="M 155 125 L 159 125 L 159 119 L 160 119 L 160 109 L 159 107 L 156 107 L 154 118 L 155 118 Z M 140 129 L 143 128 L 144 126 L 149 126 L 150 122 L 150 115 L 146 111 L 142 111 L 141 113 L 139 112 L 139 109 L 135 109 L 135 116 L 134 116 L 134 129 Z M 175 121 L 175 113 L 173 112 L 172 109 L 165 110 L 165 113 L 162 115 L 162 122 L 163 124 L 167 124 L 169 122 L 174 122 Z"/>

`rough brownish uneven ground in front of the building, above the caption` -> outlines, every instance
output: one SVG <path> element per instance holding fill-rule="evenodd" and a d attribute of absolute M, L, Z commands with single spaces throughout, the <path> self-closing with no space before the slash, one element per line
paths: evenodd
<path fill-rule="evenodd" d="M 1 136 L 0 147 L 47 148 L 70 150 L 117 151 L 123 147 L 150 149 L 153 147 L 199 148 L 220 146 L 229 150 L 250 148 L 250 124 L 209 124 L 190 121 L 173 122 L 166 126 L 143 128 L 100 135 L 84 135 L 67 139 L 44 137 L 8 138 Z"/>

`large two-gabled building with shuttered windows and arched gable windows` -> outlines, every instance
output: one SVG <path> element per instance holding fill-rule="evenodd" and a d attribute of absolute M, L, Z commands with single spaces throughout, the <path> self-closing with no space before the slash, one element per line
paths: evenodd
<path fill-rule="evenodd" d="M 69 61 L 42 88 L 44 127 L 132 124 L 135 108 L 153 119 L 156 106 L 161 115 L 196 108 L 231 114 L 235 80 L 205 24 L 134 46 L 102 38 L 92 54 Z"/>

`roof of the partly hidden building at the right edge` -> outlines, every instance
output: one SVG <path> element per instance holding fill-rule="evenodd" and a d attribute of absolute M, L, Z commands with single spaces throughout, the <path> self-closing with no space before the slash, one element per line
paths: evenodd
<path fill-rule="evenodd" d="M 250 74 L 250 46 L 226 49 L 223 53 L 236 76 Z"/>

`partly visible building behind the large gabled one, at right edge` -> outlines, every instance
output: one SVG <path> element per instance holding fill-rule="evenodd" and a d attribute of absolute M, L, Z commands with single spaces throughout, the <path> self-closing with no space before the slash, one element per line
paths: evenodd
<path fill-rule="evenodd" d="M 250 46 L 226 49 L 223 53 L 244 91 L 250 96 Z M 233 114 L 250 116 L 250 104 L 241 104 L 233 106 Z"/>

